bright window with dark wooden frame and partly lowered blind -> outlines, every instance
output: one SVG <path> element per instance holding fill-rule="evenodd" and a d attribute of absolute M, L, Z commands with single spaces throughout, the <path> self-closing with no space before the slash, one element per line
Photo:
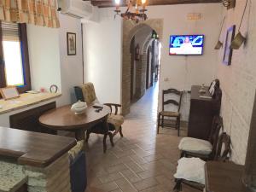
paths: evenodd
<path fill-rule="evenodd" d="M 31 90 L 26 24 L 0 23 L 0 87 Z"/>

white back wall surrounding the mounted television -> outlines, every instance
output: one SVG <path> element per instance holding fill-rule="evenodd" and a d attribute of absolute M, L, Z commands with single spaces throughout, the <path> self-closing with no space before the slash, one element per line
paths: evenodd
<path fill-rule="evenodd" d="M 189 13 L 200 13 L 201 20 L 188 20 Z M 174 87 L 190 90 L 193 84 L 210 84 L 216 74 L 217 53 L 214 46 L 218 39 L 222 4 L 183 4 L 148 8 L 148 18 L 164 18 L 161 40 L 160 94 L 161 90 Z M 172 34 L 204 34 L 203 55 L 169 55 Z M 159 96 L 161 103 L 161 96 Z M 160 105 L 159 105 L 160 108 Z M 189 95 L 183 96 L 182 120 L 189 119 Z"/>

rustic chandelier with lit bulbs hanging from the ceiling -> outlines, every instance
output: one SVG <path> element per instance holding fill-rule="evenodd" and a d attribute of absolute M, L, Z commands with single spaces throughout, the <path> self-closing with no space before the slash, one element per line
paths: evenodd
<path fill-rule="evenodd" d="M 145 12 L 147 11 L 146 9 L 146 3 L 147 0 L 141 0 L 141 4 L 139 4 L 138 0 L 135 2 L 135 9 L 134 11 L 131 11 L 133 5 L 132 5 L 132 0 L 127 1 L 127 9 L 125 13 L 120 14 L 120 0 L 115 0 L 115 10 L 114 12 L 116 13 L 114 15 L 114 18 L 116 15 L 120 15 L 124 20 L 135 20 L 136 22 L 140 20 L 147 20 L 147 15 Z M 142 6 L 142 9 L 139 9 L 139 5 Z"/>

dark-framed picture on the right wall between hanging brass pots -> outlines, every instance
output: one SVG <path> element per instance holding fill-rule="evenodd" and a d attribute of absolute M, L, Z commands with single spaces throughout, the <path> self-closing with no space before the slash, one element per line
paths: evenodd
<path fill-rule="evenodd" d="M 235 38 L 236 26 L 230 26 L 227 31 L 225 45 L 224 45 L 224 56 L 223 63 L 227 66 L 231 65 L 233 49 L 230 48 L 231 42 Z"/>

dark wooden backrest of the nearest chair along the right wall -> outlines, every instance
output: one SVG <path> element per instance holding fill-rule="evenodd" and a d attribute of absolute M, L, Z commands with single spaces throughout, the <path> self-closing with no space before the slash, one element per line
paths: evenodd
<path fill-rule="evenodd" d="M 231 152 L 230 143 L 230 136 L 226 132 L 223 132 L 218 137 L 218 144 L 216 147 L 214 160 L 225 161 L 229 159 L 229 154 Z"/>

